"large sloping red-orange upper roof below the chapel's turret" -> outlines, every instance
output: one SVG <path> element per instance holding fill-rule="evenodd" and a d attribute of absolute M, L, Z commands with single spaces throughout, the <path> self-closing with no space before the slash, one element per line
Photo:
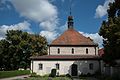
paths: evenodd
<path fill-rule="evenodd" d="M 51 45 L 96 45 L 92 39 L 86 38 L 74 29 L 66 30 L 61 36 L 52 41 Z"/>

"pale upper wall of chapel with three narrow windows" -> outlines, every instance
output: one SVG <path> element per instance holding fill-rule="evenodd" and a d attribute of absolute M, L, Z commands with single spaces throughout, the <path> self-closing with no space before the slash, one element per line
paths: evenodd
<path fill-rule="evenodd" d="M 58 48 L 60 53 L 58 54 Z M 72 48 L 74 54 L 72 54 Z M 88 49 L 88 54 L 86 54 Z M 50 55 L 98 55 L 98 47 L 50 47 L 48 49 Z"/>

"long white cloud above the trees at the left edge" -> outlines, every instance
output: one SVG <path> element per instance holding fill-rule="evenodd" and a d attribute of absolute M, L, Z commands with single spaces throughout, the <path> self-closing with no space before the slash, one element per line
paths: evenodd
<path fill-rule="evenodd" d="M 30 33 L 32 33 L 31 29 L 30 29 L 30 23 L 28 23 L 27 21 L 18 23 L 18 24 L 13 24 L 13 25 L 2 25 L 0 26 L 0 39 L 5 38 L 5 34 L 7 30 L 25 30 L 28 31 Z"/>

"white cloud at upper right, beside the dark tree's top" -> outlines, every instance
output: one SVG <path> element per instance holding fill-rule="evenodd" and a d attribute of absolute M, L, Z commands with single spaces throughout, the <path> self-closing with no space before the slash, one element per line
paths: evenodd
<path fill-rule="evenodd" d="M 109 8 L 109 3 L 114 2 L 114 0 L 105 0 L 104 5 L 98 5 L 96 8 L 95 18 L 101 18 L 107 14 L 107 9 Z"/>

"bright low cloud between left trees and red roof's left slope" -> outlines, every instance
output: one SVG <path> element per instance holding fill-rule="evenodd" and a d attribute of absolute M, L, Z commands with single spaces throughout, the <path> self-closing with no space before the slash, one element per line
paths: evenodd
<path fill-rule="evenodd" d="M 41 31 L 40 35 L 45 36 L 50 43 L 59 35 L 59 33 L 57 33 L 56 31 Z"/>

